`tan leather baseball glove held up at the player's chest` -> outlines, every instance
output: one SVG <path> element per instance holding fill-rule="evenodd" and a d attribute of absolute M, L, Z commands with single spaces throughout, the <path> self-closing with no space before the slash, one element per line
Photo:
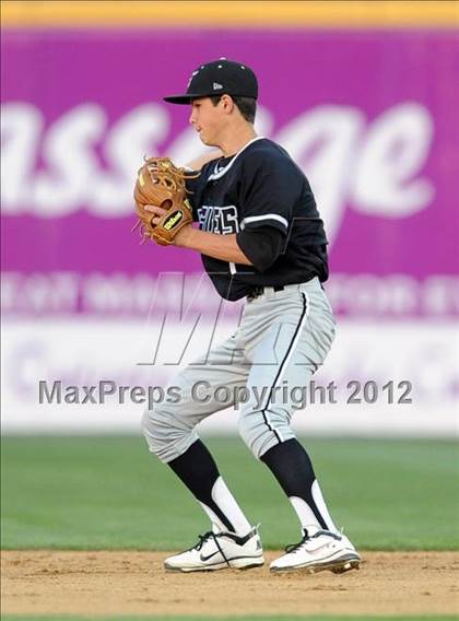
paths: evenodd
<path fill-rule="evenodd" d="M 174 237 L 180 229 L 192 222 L 185 180 L 196 176 L 199 175 L 190 175 L 184 168 L 178 168 L 168 157 L 145 157 L 133 192 L 139 216 L 133 231 L 140 226 L 142 243 L 153 239 L 161 246 L 174 244 Z M 162 207 L 167 213 L 154 224 L 153 218 L 156 216 L 145 210 L 145 204 Z"/>

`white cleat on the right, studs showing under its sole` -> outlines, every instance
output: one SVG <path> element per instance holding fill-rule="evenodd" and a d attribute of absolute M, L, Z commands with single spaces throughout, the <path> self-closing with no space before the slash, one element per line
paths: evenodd
<path fill-rule="evenodd" d="M 285 552 L 286 554 L 271 563 L 271 572 L 304 570 L 315 574 L 330 570 L 336 574 L 342 574 L 350 570 L 358 570 L 362 561 L 348 537 L 321 530 L 316 526 L 308 527 L 299 543 L 287 546 Z"/>

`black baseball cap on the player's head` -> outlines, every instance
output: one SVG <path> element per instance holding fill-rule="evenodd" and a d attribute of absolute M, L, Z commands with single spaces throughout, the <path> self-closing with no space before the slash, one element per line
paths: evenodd
<path fill-rule="evenodd" d="M 258 82 L 254 71 L 242 62 L 220 58 L 201 65 L 191 73 L 185 95 L 170 95 L 163 99 L 169 104 L 189 104 L 199 97 L 223 94 L 256 99 Z"/>

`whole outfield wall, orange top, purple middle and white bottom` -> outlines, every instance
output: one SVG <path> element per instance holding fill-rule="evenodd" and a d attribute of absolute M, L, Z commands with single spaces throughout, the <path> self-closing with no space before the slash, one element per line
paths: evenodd
<path fill-rule="evenodd" d="M 305 171 L 330 241 L 327 291 L 339 331 L 316 380 L 333 383 L 339 398 L 306 406 L 298 429 L 457 435 L 454 3 L 350 2 L 343 12 L 346 3 L 285 2 L 282 13 L 269 3 L 261 14 L 261 3 L 240 2 L 240 22 L 228 3 L 191 2 L 196 11 L 177 23 L 179 4 L 119 2 L 107 15 L 98 2 L 5 3 L 3 431 L 138 430 L 140 405 L 39 406 L 38 382 L 162 385 L 205 347 L 216 318 L 222 338 L 237 324 L 240 305 L 219 308 L 199 257 L 140 246 L 130 234 L 142 156 L 186 163 L 204 151 L 187 110 L 162 96 L 225 56 L 256 70 L 257 129 Z M 164 317 L 162 347 L 175 359 L 139 364 L 151 362 Z M 348 403 L 351 382 L 370 383 L 375 401 Z M 409 383 L 413 402 L 387 402 L 390 382 Z M 234 430 L 235 415 L 209 427 Z"/>

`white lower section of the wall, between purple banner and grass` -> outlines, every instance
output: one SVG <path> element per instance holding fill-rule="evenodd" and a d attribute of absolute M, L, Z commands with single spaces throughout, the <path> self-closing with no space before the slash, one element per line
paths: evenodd
<path fill-rule="evenodd" d="M 214 340 L 231 333 L 233 319 L 219 325 Z M 187 341 L 190 325 L 169 321 L 163 330 L 165 349 L 155 365 L 139 365 L 153 356 L 160 326 L 143 320 L 42 319 L 8 320 L 2 338 L 2 432 L 139 433 L 142 405 L 39 405 L 38 382 L 92 386 L 111 380 L 118 386 L 164 386 L 177 372 L 174 363 Z M 199 325 L 183 363 L 208 347 L 210 324 Z M 337 340 L 316 385 L 336 386 L 337 403 L 307 405 L 295 414 L 306 434 L 385 436 L 457 436 L 459 431 L 459 331 L 452 323 L 339 323 Z M 348 403 L 348 384 L 374 382 L 375 403 Z M 412 403 L 388 403 L 382 386 L 399 382 L 413 386 Z M 66 394 L 66 392 L 63 392 Z M 80 391 L 83 397 L 83 391 Z M 362 391 L 360 396 L 363 397 Z M 237 412 L 226 410 L 204 423 L 209 432 L 234 433 Z"/>

